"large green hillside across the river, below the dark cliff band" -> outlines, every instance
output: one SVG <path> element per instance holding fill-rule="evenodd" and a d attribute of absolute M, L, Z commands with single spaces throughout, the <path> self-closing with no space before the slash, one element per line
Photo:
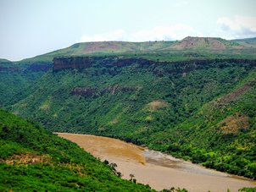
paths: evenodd
<path fill-rule="evenodd" d="M 255 64 L 124 61 L 49 70 L 7 107 L 52 131 L 117 137 L 255 178 Z"/>

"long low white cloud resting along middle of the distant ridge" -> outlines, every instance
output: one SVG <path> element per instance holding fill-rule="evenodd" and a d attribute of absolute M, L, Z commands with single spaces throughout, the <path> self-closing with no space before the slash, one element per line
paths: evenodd
<path fill-rule="evenodd" d="M 170 41 L 181 40 L 186 36 L 200 36 L 190 25 L 158 26 L 149 30 L 137 30 L 131 33 L 114 30 L 108 33 L 82 36 L 81 41 Z"/>

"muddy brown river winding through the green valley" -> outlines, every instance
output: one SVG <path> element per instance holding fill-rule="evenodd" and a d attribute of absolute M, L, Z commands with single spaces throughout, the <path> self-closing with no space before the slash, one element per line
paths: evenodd
<path fill-rule="evenodd" d="M 129 179 L 133 174 L 137 182 L 149 184 L 153 189 L 180 187 L 192 192 L 226 192 L 227 189 L 233 192 L 242 187 L 256 187 L 256 182 L 248 178 L 217 172 L 122 140 L 89 134 L 57 134 L 102 161 L 115 162 L 122 178 Z"/>

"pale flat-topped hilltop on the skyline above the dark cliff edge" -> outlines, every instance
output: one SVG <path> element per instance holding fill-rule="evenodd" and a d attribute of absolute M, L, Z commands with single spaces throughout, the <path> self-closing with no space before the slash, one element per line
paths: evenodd
<path fill-rule="evenodd" d="M 255 42 L 253 42 L 255 45 Z M 212 58 L 212 54 L 218 57 L 229 57 L 237 55 L 242 57 L 252 57 L 254 50 L 252 44 L 243 41 L 227 41 L 214 37 L 191 37 L 187 36 L 181 41 L 146 41 L 146 42 L 128 42 L 128 41 L 98 41 L 98 42 L 81 42 L 74 45 L 59 49 L 54 52 L 28 58 L 25 62 L 47 61 L 51 62 L 53 58 L 62 56 L 109 56 L 121 55 L 123 57 L 143 57 L 143 58 L 159 58 L 168 59 L 173 55 L 175 59 L 185 57 L 187 59 L 194 58 Z M 253 51 L 253 50 L 254 51 Z M 181 56 L 181 53 L 183 54 Z M 188 55 L 186 55 L 188 54 Z M 216 57 L 216 56 L 215 56 Z"/>

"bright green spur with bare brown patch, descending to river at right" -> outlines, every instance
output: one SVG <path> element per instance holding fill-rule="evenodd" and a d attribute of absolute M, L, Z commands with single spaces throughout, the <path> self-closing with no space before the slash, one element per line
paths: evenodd
<path fill-rule="evenodd" d="M 175 128 L 151 134 L 145 142 L 203 166 L 256 177 L 255 70 L 224 96 L 200 107 Z"/>

